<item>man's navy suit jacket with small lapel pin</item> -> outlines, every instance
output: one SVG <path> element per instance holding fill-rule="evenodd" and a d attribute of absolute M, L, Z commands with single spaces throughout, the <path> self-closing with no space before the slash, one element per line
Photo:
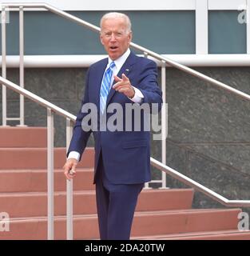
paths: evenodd
<path fill-rule="evenodd" d="M 108 58 L 94 63 L 89 67 L 86 82 L 85 95 L 81 104 L 96 104 L 98 110 L 98 120 L 100 117 L 100 87 L 105 68 L 108 64 Z M 144 98 L 141 103 L 159 103 L 161 109 L 162 94 L 157 85 L 157 65 L 155 62 L 137 55 L 132 52 L 126 59 L 121 70 L 117 74 L 121 78 L 124 73 L 131 84 L 141 90 Z M 121 94 L 113 88 L 109 91 L 106 106 L 110 103 L 120 103 L 123 108 L 123 121 L 125 122 L 125 104 L 133 103 L 124 94 Z M 137 104 L 137 103 L 133 103 Z M 82 106 L 81 105 L 81 106 Z M 80 155 L 85 150 L 89 139 L 89 132 L 81 129 L 82 119 L 86 113 L 77 114 L 76 124 L 73 128 L 73 137 L 71 139 L 68 154 L 70 151 L 77 151 Z M 107 120 L 111 114 L 107 114 Z M 141 115 L 141 124 L 144 124 L 144 116 Z M 133 120 L 132 120 L 133 123 Z M 98 127 L 100 122 L 98 122 Z M 124 124 L 125 127 L 125 124 Z M 100 153 L 102 154 L 105 174 L 113 184 L 135 184 L 149 182 L 150 175 L 150 132 L 144 131 L 93 131 L 95 141 L 95 165 L 94 174 L 98 170 Z M 94 182 L 95 182 L 94 175 Z"/>

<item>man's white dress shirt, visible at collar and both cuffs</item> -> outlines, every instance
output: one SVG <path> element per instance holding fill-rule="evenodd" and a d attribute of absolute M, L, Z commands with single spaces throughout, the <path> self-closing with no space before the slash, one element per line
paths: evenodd
<path fill-rule="evenodd" d="M 117 58 L 115 61 L 113 61 L 111 58 L 109 58 L 108 65 L 106 66 L 105 70 L 108 69 L 111 62 L 114 62 L 116 64 L 116 66 L 113 67 L 113 76 L 117 75 L 119 73 L 119 71 L 121 70 L 121 66 L 123 66 L 126 59 L 129 57 L 129 54 L 130 54 L 130 50 L 128 48 L 128 50 L 126 50 L 125 53 L 123 55 L 121 55 L 121 57 Z M 113 84 L 113 79 L 114 79 L 113 76 L 112 76 L 111 82 L 110 82 L 111 85 Z M 132 102 L 141 103 L 142 98 L 144 98 L 143 94 L 141 93 L 141 90 L 137 89 L 137 87 L 134 87 L 134 86 L 133 86 L 133 89 L 134 89 L 135 94 L 134 94 L 133 98 L 129 98 L 129 99 Z M 79 161 L 80 154 L 77 151 L 71 151 L 71 152 L 69 152 L 68 159 L 69 158 L 74 158 L 77 161 Z"/>

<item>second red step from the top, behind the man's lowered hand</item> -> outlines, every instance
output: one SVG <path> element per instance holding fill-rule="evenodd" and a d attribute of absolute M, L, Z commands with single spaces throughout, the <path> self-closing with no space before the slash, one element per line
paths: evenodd
<path fill-rule="evenodd" d="M 54 168 L 62 168 L 66 159 L 65 148 L 54 149 Z M 79 167 L 93 167 L 94 150 L 86 148 Z M 46 169 L 46 148 L 0 148 L 1 170 Z"/>

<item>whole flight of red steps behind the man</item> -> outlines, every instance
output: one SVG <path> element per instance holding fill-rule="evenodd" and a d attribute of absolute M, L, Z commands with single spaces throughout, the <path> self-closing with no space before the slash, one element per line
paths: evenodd
<path fill-rule="evenodd" d="M 98 239 L 93 149 L 85 150 L 73 180 L 73 238 Z M 10 231 L 0 239 L 46 239 L 46 128 L 0 128 L 0 213 Z M 65 148 L 54 150 L 54 235 L 66 237 Z M 238 231 L 240 209 L 192 209 L 192 189 L 143 190 L 132 239 L 250 239 Z M 0 220 L 1 223 L 1 220 Z"/>

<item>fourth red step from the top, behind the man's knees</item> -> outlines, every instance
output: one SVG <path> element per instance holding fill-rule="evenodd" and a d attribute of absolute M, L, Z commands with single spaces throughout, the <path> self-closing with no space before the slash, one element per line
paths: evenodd
<path fill-rule="evenodd" d="M 137 204 L 137 211 L 190 209 L 193 190 L 143 190 Z M 2 193 L 0 206 L 11 218 L 46 216 L 46 193 Z M 54 214 L 66 212 L 65 192 L 54 194 Z M 77 191 L 73 194 L 74 214 L 96 214 L 96 198 L 93 190 Z"/>

